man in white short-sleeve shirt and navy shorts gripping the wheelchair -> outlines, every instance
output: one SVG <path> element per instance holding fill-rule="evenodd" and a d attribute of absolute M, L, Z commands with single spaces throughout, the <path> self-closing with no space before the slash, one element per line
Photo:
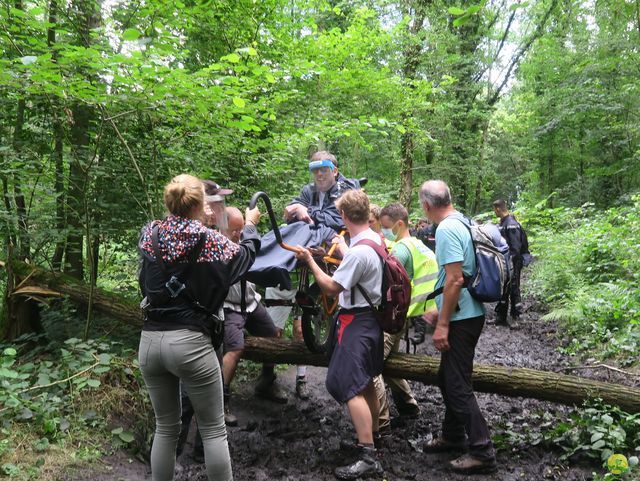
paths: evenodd
<path fill-rule="evenodd" d="M 325 294 L 339 295 L 326 386 L 336 401 L 347 404 L 358 436 L 358 457 L 352 464 L 336 468 L 335 475 L 338 479 L 357 479 L 382 474 L 374 446 L 380 407 L 373 378 L 382 372 L 383 337 L 375 312 L 358 286 L 374 306 L 379 305 L 383 269 L 373 248 L 357 245 L 364 239 L 382 245 L 382 238 L 369 228 L 369 199 L 361 190 L 345 192 L 336 201 L 336 208 L 349 232 L 351 247 L 339 244 L 343 259 L 333 277 L 316 264 L 308 249 L 300 247 L 297 257 L 309 265 Z"/>

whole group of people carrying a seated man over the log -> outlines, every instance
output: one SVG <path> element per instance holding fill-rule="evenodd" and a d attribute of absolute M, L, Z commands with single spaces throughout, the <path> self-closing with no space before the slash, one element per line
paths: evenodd
<path fill-rule="evenodd" d="M 412 235 L 404 206 L 372 206 L 359 182 L 338 172 L 331 153 L 314 154 L 309 169 L 314 182 L 285 208 L 284 217 L 287 222 L 324 224 L 336 230 L 331 242 L 341 262 L 333 275 L 316 263 L 308 246 L 298 246 L 296 253 L 318 287 L 338 297 L 326 388 L 336 401 L 346 404 L 356 439 L 341 442 L 341 449 L 353 453 L 353 461 L 337 467 L 336 477 L 382 474 L 377 450 L 381 433 L 390 428 L 386 386 L 400 416 L 420 413 L 407 381 L 382 376 L 384 360 L 399 349 L 410 324 L 431 325 L 434 346 L 441 352 L 438 379 L 444 421 L 440 437 L 428 441 L 424 450 L 464 452 L 450 462 L 457 472 L 495 471 L 489 430 L 471 386 L 485 309 L 464 288 L 465 277 L 476 269 L 474 246 L 464 225 L 468 219 L 455 210 L 449 188 L 443 181 L 431 180 L 420 189 L 421 208 L 430 225 L 437 226 L 431 240 L 434 252 Z M 193 412 L 209 479 L 232 479 L 226 426 L 237 423 L 229 409 L 229 395 L 244 348 L 243 330 L 262 337 L 281 332 L 256 286 L 243 280 L 260 251 L 255 227 L 260 213 L 247 209 L 243 218 L 238 209 L 224 205 L 229 194 L 211 181 L 177 176 L 164 191 L 168 216 L 142 230 L 140 287 L 145 321 L 139 361 L 156 417 L 151 450 L 154 481 L 173 479 L 176 451 L 184 443 Z M 496 211 L 499 207 L 504 214 L 506 205 L 497 205 Z M 503 218 L 505 229 L 517 223 L 508 212 Z M 348 233 L 348 244 L 337 235 L 342 229 Z M 508 241 L 509 234 L 505 238 Z M 396 334 L 381 330 L 375 312 L 382 299 L 381 248 L 397 257 L 411 279 L 408 322 Z M 439 287 L 444 288 L 442 295 L 429 300 Z M 511 314 L 518 315 L 519 292 L 504 303 L 509 300 Z M 499 314 L 507 312 L 502 304 Z M 214 346 L 219 343 L 220 356 Z M 298 367 L 297 377 L 304 383 L 301 370 L 304 373 L 304 366 Z M 263 365 L 256 394 L 287 402 L 275 380 L 273 365 Z M 187 416 L 185 407 L 190 411 Z"/>

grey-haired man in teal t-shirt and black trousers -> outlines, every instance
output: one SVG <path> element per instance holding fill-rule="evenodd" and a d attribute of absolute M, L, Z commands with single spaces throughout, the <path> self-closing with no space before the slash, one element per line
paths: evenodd
<path fill-rule="evenodd" d="M 484 306 L 464 287 L 465 277 L 476 270 L 473 242 L 464 225 L 468 221 L 451 204 L 449 187 L 441 180 L 425 182 L 420 202 L 429 220 L 438 224 L 436 297 L 438 320 L 433 345 L 441 352 L 438 384 L 445 415 L 441 437 L 424 446 L 427 452 L 464 450 L 469 453 L 451 461 L 464 474 L 492 473 L 496 459 L 487 423 L 480 412 L 471 376 L 475 348 L 484 326 Z"/>

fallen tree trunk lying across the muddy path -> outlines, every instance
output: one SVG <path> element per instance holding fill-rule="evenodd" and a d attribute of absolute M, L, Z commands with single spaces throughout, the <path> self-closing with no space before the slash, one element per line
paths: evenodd
<path fill-rule="evenodd" d="M 89 288 L 77 280 L 18 262 L 14 263 L 14 271 L 20 273 L 23 282 L 11 295 L 25 295 L 34 299 L 63 295 L 80 304 L 87 304 Z M 136 327 L 142 325 L 138 304 L 116 294 L 95 289 L 93 306 L 114 319 Z M 303 343 L 273 338 L 247 338 L 244 357 L 257 362 L 327 365 L 325 355 L 311 353 Z M 384 374 L 435 385 L 439 363 L 436 357 L 393 354 L 385 363 Z M 476 364 L 473 383 L 475 390 L 480 392 L 530 397 L 568 405 L 580 405 L 587 399 L 601 398 L 605 403 L 620 406 L 625 411 L 640 412 L 640 389 L 578 376 Z"/>

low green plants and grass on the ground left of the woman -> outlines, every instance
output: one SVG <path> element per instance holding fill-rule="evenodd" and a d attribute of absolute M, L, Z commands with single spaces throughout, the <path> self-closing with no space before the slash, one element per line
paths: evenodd
<path fill-rule="evenodd" d="M 148 448 L 152 410 L 130 350 L 96 340 L 38 341 L 25 336 L 0 346 L 4 474 L 39 479 L 45 460 L 64 472 L 74 457 Z M 76 452 L 79 445 L 85 449 Z"/>

